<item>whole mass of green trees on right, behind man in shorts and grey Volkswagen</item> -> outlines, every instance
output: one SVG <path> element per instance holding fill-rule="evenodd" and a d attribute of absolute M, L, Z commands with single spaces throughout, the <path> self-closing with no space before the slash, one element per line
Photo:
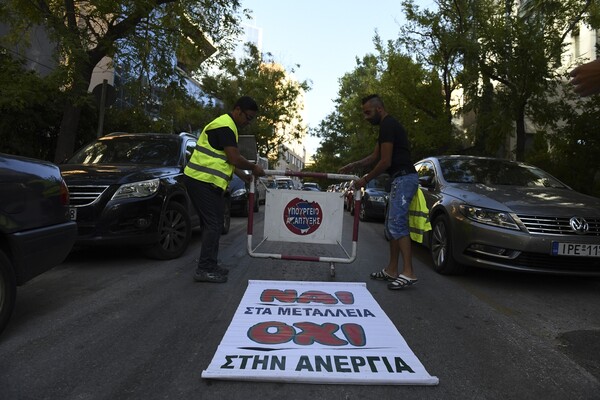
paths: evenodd
<path fill-rule="evenodd" d="M 565 39 L 582 24 L 598 28 L 598 4 L 435 3 L 430 11 L 403 1 L 408 23 L 399 38 L 384 46 L 376 36 L 378 54 L 357 60 L 340 79 L 336 112 L 314 132 L 322 139 L 314 169 L 335 169 L 371 151 L 376 133 L 362 122 L 359 98 L 379 93 L 407 128 L 415 159 L 457 151 L 515 157 L 598 195 L 599 104 L 573 95 L 565 74 L 573 65 L 564 65 Z"/>

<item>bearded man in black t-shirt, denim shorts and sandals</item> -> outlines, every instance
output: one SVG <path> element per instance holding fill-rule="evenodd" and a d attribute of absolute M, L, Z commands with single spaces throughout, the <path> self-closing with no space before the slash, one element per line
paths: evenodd
<path fill-rule="evenodd" d="M 415 167 L 410 159 L 410 144 L 404 127 L 389 115 L 381 98 L 374 94 L 362 100 L 365 119 L 379 126 L 379 137 L 373 152 L 367 157 L 340 168 L 346 173 L 356 167 L 375 167 L 354 183 L 355 188 L 387 172 L 392 179 L 388 211 L 385 218 L 385 233 L 390 241 L 390 259 L 381 271 L 371 273 L 371 279 L 390 281 L 388 288 L 403 289 L 414 285 L 417 278 L 412 267 L 411 240 L 408 227 L 408 206 L 415 195 L 419 182 Z M 398 274 L 399 256 L 402 254 L 402 273 Z"/>

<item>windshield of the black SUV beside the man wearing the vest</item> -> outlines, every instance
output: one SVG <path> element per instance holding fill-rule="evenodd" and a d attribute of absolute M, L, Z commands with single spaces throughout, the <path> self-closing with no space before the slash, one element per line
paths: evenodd
<path fill-rule="evenodd" d="M 177 165 L 179 145 L 170 138 L 105 137 L 79 150 L 69 164 Z"/>

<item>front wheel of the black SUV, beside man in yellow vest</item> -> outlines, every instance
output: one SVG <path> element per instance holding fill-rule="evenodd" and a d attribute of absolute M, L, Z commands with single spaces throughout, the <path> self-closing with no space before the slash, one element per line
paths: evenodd
<path fill-rule="evenodd" d="M 192 222 L 185 207 L 171 202 L 158 227 L 159 241 L 148 247 L 148 255 L 159 260 L 179 258 L 192 237 Z"/>

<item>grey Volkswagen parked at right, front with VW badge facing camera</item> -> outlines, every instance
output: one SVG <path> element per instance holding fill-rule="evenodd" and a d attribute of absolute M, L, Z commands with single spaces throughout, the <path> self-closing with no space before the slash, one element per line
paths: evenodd
<path fill-rule="evenodd" d="M 469 156 L 415 164 L 433 267 L 600 276 L 600 199 L 521 162 Z"/>

